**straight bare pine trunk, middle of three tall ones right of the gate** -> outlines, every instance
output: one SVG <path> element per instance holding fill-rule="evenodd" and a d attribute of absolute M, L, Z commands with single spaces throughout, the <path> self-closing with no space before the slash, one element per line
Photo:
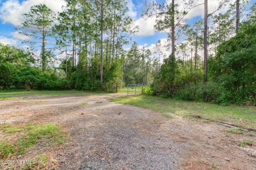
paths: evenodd
<path fill-rule="evenodd" d="M 207 81 L 207 28 L 208 28 L 208 2 L 204 0 L 204 83 Z"/>

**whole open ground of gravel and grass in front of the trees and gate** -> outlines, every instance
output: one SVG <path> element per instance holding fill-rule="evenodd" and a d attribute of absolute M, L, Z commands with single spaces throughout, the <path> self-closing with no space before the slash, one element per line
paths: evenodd
<path fill-rule="evenodd" d="M 255 133 L 218 123 L 255 129 L 254 107 L 81 91 L 0 96 L 2 169 L 256 169 Z"/>

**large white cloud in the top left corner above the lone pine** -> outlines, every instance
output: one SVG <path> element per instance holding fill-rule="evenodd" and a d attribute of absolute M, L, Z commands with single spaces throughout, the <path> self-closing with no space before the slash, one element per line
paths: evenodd
<path fill-rule="evenodd" d="M 29 12 L 30 7 L 38 4 L 46 4 L 55 13 L 62 11 L 62 6 L 66 5 L 65 0 L 7 0 L 0 7 L 0 18 L 3 23 L 21 25 L 24 21 L 22 14 Z"/>

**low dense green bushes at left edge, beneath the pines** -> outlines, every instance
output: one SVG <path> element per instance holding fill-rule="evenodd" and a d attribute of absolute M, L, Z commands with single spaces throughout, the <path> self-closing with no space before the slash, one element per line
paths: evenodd
<path fill-rule="evenodd" d="M 56 72 L 42 72 L 38 67 L 19 67 L 13 64 L 0 64 L 0 89 L 4 90 L 68 90 L 71 83 Z"/>

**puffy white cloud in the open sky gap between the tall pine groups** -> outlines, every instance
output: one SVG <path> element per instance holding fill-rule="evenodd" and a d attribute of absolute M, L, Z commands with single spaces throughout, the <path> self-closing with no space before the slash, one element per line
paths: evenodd
<path fill-rule="evenodd" d="M 139 28 L 138 32 L 135 35 L 138 36 L 153 36 L 155 34 L 154 25 L 156 23 L 156 17 L 153 16 L 145 20 L 144 18 L 139 18 L 138 20 L 134 21 L 134 27 Z"/>

